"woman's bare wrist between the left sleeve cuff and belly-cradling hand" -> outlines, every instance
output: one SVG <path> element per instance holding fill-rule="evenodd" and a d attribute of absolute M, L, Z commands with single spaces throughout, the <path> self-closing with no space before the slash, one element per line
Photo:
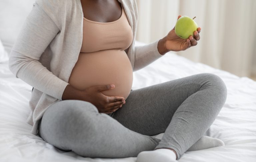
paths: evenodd
<path fill-rule="evenodd" d="M 63 92 L 62 100 L 81 100 L 81 91 L 68 84 Z"/>

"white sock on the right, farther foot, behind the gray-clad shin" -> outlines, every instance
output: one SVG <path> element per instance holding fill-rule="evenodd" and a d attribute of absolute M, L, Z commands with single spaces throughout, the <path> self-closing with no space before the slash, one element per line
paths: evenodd
<path fill-rule="evenodd" d="M 187 151 L 203 150 L 212 147 L 224 146 L 224 142 L 218 138 L 209 136 L 202 136 L 194 145 L 192 145 Z"/>

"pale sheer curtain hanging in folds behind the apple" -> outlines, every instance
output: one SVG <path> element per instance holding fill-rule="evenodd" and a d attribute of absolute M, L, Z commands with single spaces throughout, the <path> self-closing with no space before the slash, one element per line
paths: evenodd
<path fill-rule="evenodd" d="M 202 28 L 195 47 L 178 55 L 238 76 L 256 75 L 256 0 L 136 0 L 136 39 L 150 43 L 187 15 Z"/>

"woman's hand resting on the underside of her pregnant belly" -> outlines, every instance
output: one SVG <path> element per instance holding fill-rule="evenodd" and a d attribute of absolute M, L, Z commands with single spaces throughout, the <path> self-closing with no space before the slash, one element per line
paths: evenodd
<path fill-rule="evenodd" d="M 83 100 L 92 103 L 99 113 L 112 113 L 125 104 L 124 97 L 105 96 L 102 91 L 113 89 L 110 85 L 97 85 L 82 90 Z"/>

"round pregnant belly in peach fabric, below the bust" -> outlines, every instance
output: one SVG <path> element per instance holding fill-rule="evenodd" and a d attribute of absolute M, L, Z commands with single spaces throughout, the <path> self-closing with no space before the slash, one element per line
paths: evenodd
<path fill-rule="evenodd" d="M 132 65 L 125 51 L 110 49 L 90 53 L 81 52 L 68 83 L 79 90 L 95 85 L 114 84 L 114 89 L 101 93 L 126 99 L 130 94 L 132 81 Z"/>

